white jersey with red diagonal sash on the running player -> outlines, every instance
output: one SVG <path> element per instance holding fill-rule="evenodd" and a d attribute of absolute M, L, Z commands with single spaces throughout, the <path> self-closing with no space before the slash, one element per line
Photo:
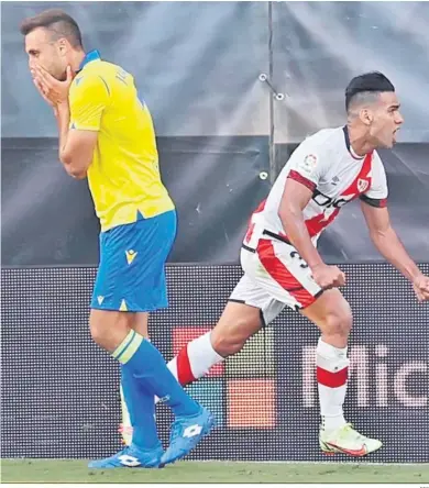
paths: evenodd
<path fill-rule="evenodd" d="M 386 174 L 378 154 L 374 151 L 359 157 L 353 154 L 345 127 L 326 129 L 305 140 L 293 153 L 268 197 L 253 213 L 245 245 L 252 247 L 264 231 L 264 239 L 287 239 L 278 217 L 287 178 L 312 191 L 302 213 L 315 242 L 340 209 L 355 198 L 376 207 L 386 204 Z"/>

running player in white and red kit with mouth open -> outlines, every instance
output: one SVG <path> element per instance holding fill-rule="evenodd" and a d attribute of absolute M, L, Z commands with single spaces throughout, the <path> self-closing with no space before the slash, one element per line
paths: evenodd
<path fill-rule="evenodd" d="M 392 148 L 404 120 L 392 82 L 381 73 L 351 80 L 345 90 L 348 123 L 305 140 L 253 213 L 241 249 L 242 279 L 216 328 L 190 342 L 169 368 L 182 385 L 238 353 L 263 323 L 289 307 L 321 332 L 317 345 L 320 448 L 364 456 L 382 442 L 360 434 L 343 417 L 348 384 L 350 306 L 338 287 L 345 276 L 323 263 L 321 232 L 348 202 L 359 198 L 380 253 L 429 300 L 429 278 L 407 254 L 389 221 L 387 185 L 380 147 Z"/>

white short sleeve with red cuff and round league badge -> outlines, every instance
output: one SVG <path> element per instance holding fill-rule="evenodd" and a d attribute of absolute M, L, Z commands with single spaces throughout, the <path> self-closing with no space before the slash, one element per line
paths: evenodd
<path fill-rule="evenodd" d="M 324 171 L 324 158 L 320 148 L 314 146 L 315 144 L 308 144 L 305 141 L 295 149 L 287 163 L 289 169 L 287 177 L 300 182 L 311 191 L 315 191 Z"/>

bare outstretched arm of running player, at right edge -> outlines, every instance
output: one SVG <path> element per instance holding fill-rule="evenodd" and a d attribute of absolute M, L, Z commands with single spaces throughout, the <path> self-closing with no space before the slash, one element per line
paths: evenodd
<path fill-rule="evenodd" d="M 392 228 L 387 208 L 373 207 L 365 201 L 361 201 L 361 207 L 380 254 L 413 282 L 419 301 L 429 300 L 429 278 L 417 267 Z"/>

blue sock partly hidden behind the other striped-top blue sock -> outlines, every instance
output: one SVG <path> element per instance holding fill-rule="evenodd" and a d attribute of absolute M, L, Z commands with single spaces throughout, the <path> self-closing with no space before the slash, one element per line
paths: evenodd
<path fill-rule="evenodd" d="M 161 445 L 155 423 L 155 402 L 151 391 L 145 391 L 130 368 L 121 367 L 123 398 L 133 428 L 133 444 L 144 451 Z"/>

